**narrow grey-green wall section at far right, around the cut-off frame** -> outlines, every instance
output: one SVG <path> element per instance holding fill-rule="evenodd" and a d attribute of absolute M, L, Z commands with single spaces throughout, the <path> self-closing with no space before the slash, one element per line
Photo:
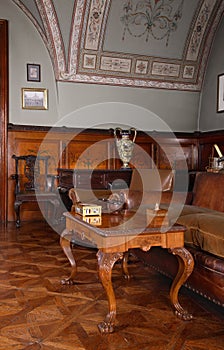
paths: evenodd
<path fill-rule="evenodd" d="M 207 65 L 202 89 L 199 130 L 224 129 L 224 112 L 217 113 L 217 76 L 224 74 L 224 20 L 220 23 Z"/>

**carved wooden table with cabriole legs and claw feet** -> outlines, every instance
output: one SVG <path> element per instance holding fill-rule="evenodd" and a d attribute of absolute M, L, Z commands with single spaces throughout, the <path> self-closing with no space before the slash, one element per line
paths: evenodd
<path fill-rule="evenodd" d="M 82 216 L 75 213 L 65 213 L 66 228 L 61 234 L 60 244 L 71 264 L 71 275 L 62 280 L 63 284 L 73 284 L 77 272 L 75 258 L 71 250 L 71 242 L 79 241 L 82 245 L 92 245 L 98 249 L 98 273 L 106 291 L 109 312 L 103 322 L 98 325 L 101 333 L 114 331 L 116 319 L 116 299 L 112 286 L 112 269 L 115 262 L 123 259 L 123 271 L 130 278 L 127 269 L 127 252 L 131 248 L 148 251 L 152 246 L 168 248 L 177 256 L 179 270 L 170 289 L 171 305 L 175 314 L 190 320 L 192 315 L 182 308 L 178 300 L 178 292 L 190 276 L 194 261 L 190 252 L 184 248 L 183 226 L 152 228 L 147 227 L 146 214 L 134 211 L 123 211 L 119 214 L 103 214 L 98 218 L 101 223 L 90 224 Z M 90 219 L 87 219 L 90 220 Z M 97 219 L 96 219 L 97 221 Z"/>

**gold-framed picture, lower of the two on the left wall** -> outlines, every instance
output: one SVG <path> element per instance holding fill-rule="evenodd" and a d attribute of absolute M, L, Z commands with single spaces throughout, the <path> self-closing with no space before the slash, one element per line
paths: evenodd
<path fill-rule="evenodd" d="M 22 88 L 23 109 L 48 109 L 47 89 Z"/>

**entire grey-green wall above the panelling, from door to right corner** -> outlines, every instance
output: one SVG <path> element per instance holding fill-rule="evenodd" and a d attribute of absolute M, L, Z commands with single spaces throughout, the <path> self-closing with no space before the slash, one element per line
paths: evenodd
<path fill-rule="evenodd" d="M 136 126 L 137 122 L 142 130 L 163 129 L 165 124 L 153 123 L 151 113 L 147 117 L 145 110 L 136 108 L 136 105 L 158 115 L 173 131 L 197 129 L 199 105 L 197 92 L 75 83 L 56 84 L 48 51 L 30 20 L 9 0 L 0 2 L 0 13 L 1 18 L 9 21 L 9 122 L 51 126 L 60 121 L 67 126 L 84 128 L 105 123 L 116 125 L 118 122 Z M 27 63 L 41 64 L 41 83 L 26 81 Z M 47 88 L 49 110 L 23 110 L 21 108 L 22 87 Z M 110 102 L 113 102 L 113 108 L 109 108 Z M 96 106 L 96 104 L 99 105 Z M 75 115 L 74 112 L 79 111 L 80 108 L 82 113 L 77 117 L 77 113 Z M 64 118 L 61 121 L 61 118 L 67 114 L 72 114 L 72 118 Z"/>

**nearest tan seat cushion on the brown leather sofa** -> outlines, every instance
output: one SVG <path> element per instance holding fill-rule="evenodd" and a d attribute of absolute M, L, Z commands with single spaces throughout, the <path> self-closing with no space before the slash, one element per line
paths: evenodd
<path fill-rule="evenodd" d="M 224 215 L 197 213 L 178 218 L 186 226 L 185 244 L 224 258 Z"/>

